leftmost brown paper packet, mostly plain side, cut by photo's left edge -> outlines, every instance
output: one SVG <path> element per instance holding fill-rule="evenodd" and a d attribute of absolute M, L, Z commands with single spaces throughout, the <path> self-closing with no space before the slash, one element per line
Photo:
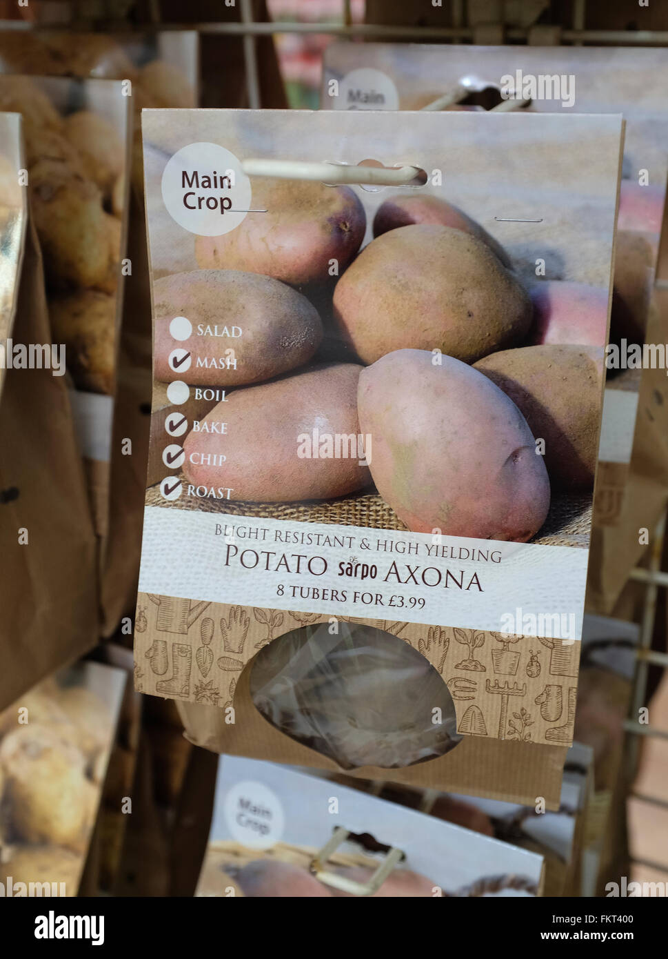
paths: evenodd
<path fill-rule="evenodd" d="M 0 254 L 0 709 L 98 639 L 96 538 L 70 390 L 51 363 L 58 350 L 26 189 L 22 126 L 16 114 L 0 112 L 0 184 L 9 201 L 0 204 L 7 211 Z"/>

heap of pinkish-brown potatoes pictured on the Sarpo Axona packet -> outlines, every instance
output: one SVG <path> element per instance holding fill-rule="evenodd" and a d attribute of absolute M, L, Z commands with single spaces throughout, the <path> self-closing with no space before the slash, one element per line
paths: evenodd
<path fill-rule="evenodd" d="M 181 378 L 168 362 L 179 345 L 183 379 L 227 390 L 185 439 L 189 482 L 265 503 L 375 483 L 409 529 L 518 542 L 541 529 L 551 489 L 591 489 L 607 291 L 545 280 L 527 292 L 482 226 L 433 196 L 383 202 L 359 251 L 366 216 L 350 188 L 257 179 L 253 191 L 268 213 L 197 237 L 201 269 L 154 283 L 156 378 Z M 179 315 L 187 342 L 170 335 Z M 217 360 L 226 349 L 234 368 Z M 298 456 L 315 430 L 370 435 L 368 465 Z M 217 461 L 206 454 L 227 458 L 195 465 Z"/>

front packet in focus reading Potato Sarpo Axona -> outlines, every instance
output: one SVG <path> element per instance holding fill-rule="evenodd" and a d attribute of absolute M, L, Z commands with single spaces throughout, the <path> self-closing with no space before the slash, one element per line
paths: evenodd
<path fill-rule="evenodd" d="M 559 257 L 607 302 L 621 118 L 199 110 L 143 124 L 164 472 L 147 490 L 137 688 L 188 722 L 214 707 L 189 734 L 220 751 L 557 803 L 606 331 L 550 351 L 521 395 L 504 363 L 523 355 L 537 260 Z M 323 156 L 333 176 L 360 159 L 413 165 L 423 186 L 242 170 Z M 451 190 L 468 232 L 382 232 L 410 190 L 439 208 Z M 551 376 L 564 430 L 587 410 L 575 456 L 537 416 Z M 547 675 L 562 702 L 549 719 L 535 705 Z"/>

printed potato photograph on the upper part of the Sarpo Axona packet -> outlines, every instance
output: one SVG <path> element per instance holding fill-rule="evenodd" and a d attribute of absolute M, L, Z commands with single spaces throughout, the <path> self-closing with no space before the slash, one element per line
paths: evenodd
<path fill-rule="evenodd" d="M 321 140 L 311 156 L 304 118 L 251 129 L 200 111 L 179 131 L 171 116 L 144 120 L 153 433 L 173 409 L 188 426 L 152 457 L 147 504 L 586 548 L 619 120 L 452 113 L 441 142 L 413 149 L 424 115 L 390 147 L 389 118 L 365 113 L 356 162 L 410 162 L 426 182 L 250 176 L 241 222 L 194 236 L 161 196 L 184 144 L 340 162 L 341 138 L 310 115 L 332 151 Z M 178 316 L 192 324 L 182 365 Z M 174 380 L 194 387 L 183 407 Z M 160 480 L 180 464 L 170 501 Z"/>

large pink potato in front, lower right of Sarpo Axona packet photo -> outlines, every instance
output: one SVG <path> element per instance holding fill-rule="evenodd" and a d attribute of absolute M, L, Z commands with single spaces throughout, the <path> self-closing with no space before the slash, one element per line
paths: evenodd
<path fill-rule="evenodd" d="M 549 480 L 515 404 L 449 356 L 398 350 L 359 377 L 359 429 L 371 434 L 380 496 L 415 532 L 526 542 Z"/>

